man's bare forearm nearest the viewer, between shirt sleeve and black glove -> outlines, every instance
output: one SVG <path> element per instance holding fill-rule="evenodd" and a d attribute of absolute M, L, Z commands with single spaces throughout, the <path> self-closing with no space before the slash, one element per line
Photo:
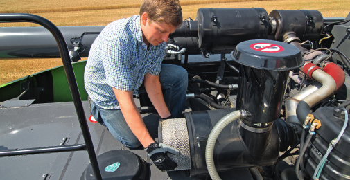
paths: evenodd
<path fill-rule="evenodd" d="M 131 131 L 137 139 L 139 139 L 143 147 L 147 147 L 150 143 L 154 143 L 155 141 L 150 136 L 145 123 L 143 123 L 141 114 L 134 103 L 132 92 L 121 91 L 115 88 L 113 88 L 113 91 L 119 102 L 119 107 L 121 108 L 126 123 L 128 123 Z"/>

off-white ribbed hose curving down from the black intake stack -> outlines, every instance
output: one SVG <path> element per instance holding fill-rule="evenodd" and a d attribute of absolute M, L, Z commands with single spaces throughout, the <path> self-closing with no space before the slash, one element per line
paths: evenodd
<path fill-rule="evenodd" d="M 205 162 L 207 163 L 207 169 L 209 172 L 209 175 L 211 179 L 218 180 L 221 179 L 219 177 L 218 172 L 216 172 L 215 164 L 214 164 L 214 147 L 216 143 L 216 139 L 218 138 L 220 132 L 222 129 L 224 129 L 229 123 L 233 122 L 234 120 L 244 118 L 243 116 L 246 116 L 245 111 L 234 111 L 230 114 L 227 114 L 223 118 L 219 120 L 218 123 L 213 127 L 211 130 L 208 140 L 207 140 L 207 146 L 205 147 Z"/>

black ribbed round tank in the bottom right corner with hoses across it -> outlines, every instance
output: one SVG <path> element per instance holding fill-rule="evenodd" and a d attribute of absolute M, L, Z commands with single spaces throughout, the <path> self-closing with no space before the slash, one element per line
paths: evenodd
<path fill-rule="evenodd" d="M 313 114 L 322 122 L 315 138 L 308 144 L 308 150 L 304 155 L 304 167 L 309 177 L 313 177 L 316 166 L 327 152 L 327 148 L 333 139 L 337 138 L 344 125 L 344 114 L 338 107 L 320 107 Z M 328 158 L 324 162 L 324 168 L 320 173 L 320 179 L 350 179 L 350 130 L 342 134 L 340 141 L 333 147 Z"/>

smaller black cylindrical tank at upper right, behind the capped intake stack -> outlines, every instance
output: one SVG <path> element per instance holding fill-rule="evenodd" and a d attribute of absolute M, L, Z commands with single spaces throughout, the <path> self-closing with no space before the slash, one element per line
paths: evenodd
<path fill-rule="evenodd" d="M 276 21 L 276 40 L 292 31 L 301 41 L 314 41 L 320 37 L 323 27 L 322 14 L 317 10 L 272 10 L 269 17 Z"/>

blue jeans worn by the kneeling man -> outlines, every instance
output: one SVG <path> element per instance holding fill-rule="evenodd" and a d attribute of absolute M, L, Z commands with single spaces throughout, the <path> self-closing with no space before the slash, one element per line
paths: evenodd
<path fill-rule="evenodd" d="M 161 83 L 161 89 L 163 90 L 164 101 L 170 113 L 176 118 L 181 117 L 186 101 L 188 83 L 187 71 L 181 66 L 162 64 L 161 73 L 159 73 L 159 81 Z M 139 93 L 146 93 L 146 89 L 143 85 L 139 88 Z M 120 109 L 103 109 L 98 107 L 94 102 L 91 102 L 91 114 L 98 123 L 105 125 L 112 136 L 126 147 L 137 148 L 141 146 L 141 143 L 136 136 L 134 136 L 126 123 Z M 143 118 L 148 131 L 150 131 L 150 129 L 157 129 L 158 118 L 156 118 L 156 122 L 152 120 L 154 117 L 147 121 Z M 150 132 L 150 134 L 155 134 L 155 132 Z"/>

